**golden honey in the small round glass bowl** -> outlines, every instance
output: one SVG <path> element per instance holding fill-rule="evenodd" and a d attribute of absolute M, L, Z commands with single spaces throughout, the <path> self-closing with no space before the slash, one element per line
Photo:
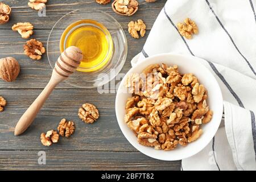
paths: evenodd
<path fill-rule="evenodd" d="M 60 51 L 69 46 L 79 47 L 83 54 L 77 71 L 98 71 L 112 57 L 112 37 L 101 23 L 94 20 L 80 20 L 65 29 L 60 40 Z"/>

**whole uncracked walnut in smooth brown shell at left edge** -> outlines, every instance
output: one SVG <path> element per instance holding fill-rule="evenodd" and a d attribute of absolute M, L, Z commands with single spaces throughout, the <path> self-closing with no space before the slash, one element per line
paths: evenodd
<path fill-rule="evenodd" d="M 0 59 L 0 78 L 11 82 L 19 75 L 20 66 L 14 57 Z"/>

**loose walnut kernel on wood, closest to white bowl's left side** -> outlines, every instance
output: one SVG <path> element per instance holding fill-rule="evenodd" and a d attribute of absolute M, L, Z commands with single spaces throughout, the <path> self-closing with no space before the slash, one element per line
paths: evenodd
<path fill-rule="evenodd" d="M 79 108 L 78 115 L 85 123 L 93 123 L 100 116 L 96 106 L 88 103 L 83 104 L 82 107 Z"/>

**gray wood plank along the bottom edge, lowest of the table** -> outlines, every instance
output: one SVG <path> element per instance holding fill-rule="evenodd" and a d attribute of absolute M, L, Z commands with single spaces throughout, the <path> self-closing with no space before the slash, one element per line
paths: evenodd
<path fill-rule="evenodd" d="M 180 162 L 155 160 L 140 152 L 46 150 L 46 165 L 38 164 L 38 152 L 0 151 L 0 169 L 180 170 Z"/>

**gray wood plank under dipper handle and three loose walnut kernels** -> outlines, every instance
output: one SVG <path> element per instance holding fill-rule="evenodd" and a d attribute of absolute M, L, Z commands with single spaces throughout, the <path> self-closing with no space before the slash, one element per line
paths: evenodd
<path fill-rule="evenodd" d="M 48 148 L 40 143 L 40 134 L 57 129 L 61 118 L 72 119 L 76 132 L 72 137 L 61 138 L 49 150 L 114 150 L 134 151 L 119 129 L 115 118 L 115 94 L 99 94 L 97 89 L 55 90 L 43 106 L 30 128 L 18 137 L 13 134 L 19 117 L 35 100 L 41 90 L 1 90 L 6 98 L 5 111 L 0 113 L 0 150 L 41 150 Z M 93 125 L 86 124 L 77 116 L 85 102 L 97 106 L 100 118 Z"/>

